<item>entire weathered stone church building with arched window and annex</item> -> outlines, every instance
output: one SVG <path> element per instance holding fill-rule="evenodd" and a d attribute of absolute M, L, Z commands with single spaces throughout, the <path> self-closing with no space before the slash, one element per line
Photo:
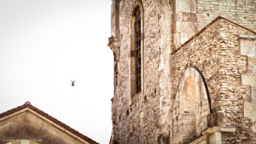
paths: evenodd
<path fill-rule="evenodd" d="M 113 0 L 111 144 L 256 143 L 255 0 Z"/>

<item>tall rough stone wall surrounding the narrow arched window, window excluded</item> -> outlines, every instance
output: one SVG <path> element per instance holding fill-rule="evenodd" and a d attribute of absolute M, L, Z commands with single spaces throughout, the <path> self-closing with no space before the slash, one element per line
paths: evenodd
<path fill-rule="evenodd" d="M 131 95 L 131 16 L 143 5 L 143 90 Z M 120 58 L 113 97 L 113 143 L 157 143 L 168 130 L 172 8 L 168 1 L 120 1 Z M 169 81 L 168 81 L 169 79 Z M 166 81 L 167 80 L 167 81 Z M 161 95 L 161 96 L 160 96 Z M 163 113 L 163 115 L 159 115 Z M 165 131 L 166 130 L 166 131 Z M 159 138 L 158 138 L 159 137 Z"/>

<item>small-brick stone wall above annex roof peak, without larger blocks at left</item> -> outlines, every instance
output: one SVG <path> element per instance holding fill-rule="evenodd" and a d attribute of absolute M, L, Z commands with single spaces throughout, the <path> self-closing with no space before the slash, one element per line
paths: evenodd
<path fill-rule="evenodd" d="M 196 3 L 197 29 L 204 28 L 215 17 L 225 17 L 241 26 L 256 31 L 255 0 L 200 0 Z"/>

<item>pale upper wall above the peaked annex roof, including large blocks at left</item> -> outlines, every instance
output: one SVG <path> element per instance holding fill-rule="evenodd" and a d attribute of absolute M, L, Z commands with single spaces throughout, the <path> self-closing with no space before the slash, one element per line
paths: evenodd
<path fill-rule="evenodd" d="M 218 16 L 256 31 L 256 1 L 254 0 L 179 0 L 175 1 L 175 47 L 184 44 Z"/>

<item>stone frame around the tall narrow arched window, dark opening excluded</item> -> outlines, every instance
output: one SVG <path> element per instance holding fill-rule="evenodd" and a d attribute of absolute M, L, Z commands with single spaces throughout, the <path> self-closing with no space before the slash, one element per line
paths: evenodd
<path fill-rule="evenodd" d="M 135 46 L 135 29 L 134 23 L 136 22 L 135 12 L 137 9 L 140 9 L 140 18 L 141 18 L 141 35 L 140 35 L 140 90 L 137 90 L 136 86 L 136 46 Z M 143 5 L 141 1 L 136 1 L 133 6 L 131 13 L 131 22 L 130 22 L 130 92 L 131 97 L 136 95 L 141 95 L 143 93 Z"/>

